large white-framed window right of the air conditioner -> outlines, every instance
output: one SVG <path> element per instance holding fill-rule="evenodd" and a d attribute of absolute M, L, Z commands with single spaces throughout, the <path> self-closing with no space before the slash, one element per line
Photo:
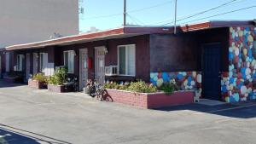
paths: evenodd
<path fill-rule="evenodd" d="M 135 76 L 135 44 L 118 46 L 119 75 Z"/>

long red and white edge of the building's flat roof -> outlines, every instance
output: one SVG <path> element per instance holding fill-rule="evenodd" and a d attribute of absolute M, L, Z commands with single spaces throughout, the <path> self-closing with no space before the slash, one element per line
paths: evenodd
<path fill-rule="evenodd" d="M 209 28 L 229 26 L 255 26 L 255 20 L 213 20 L 197 24 L 177 26 L 177 32 L 192 32 Z M 35 43 L 16 44 L 6 47 L 6 50 L 15 49 L 39 49 L 46 46 L 70 45 L 74 43 L 86 43 L 121 37 L 134 37 L 145 34 L 172 34 L 173 26 L 125 26 L 102 32 L 83 33 L 68 37 L 60 37 Z"/>

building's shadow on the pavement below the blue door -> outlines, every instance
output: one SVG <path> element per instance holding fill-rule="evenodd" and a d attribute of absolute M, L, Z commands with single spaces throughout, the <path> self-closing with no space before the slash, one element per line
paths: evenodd
<path fill-rule="evenodd" d="M 193 103 L 182 106 L 157 108 L 154 110 L 166 112 L 190 110 L 195 112 L 206 112 L 231 118 L 256 118 L 256 101 L 222 104 L 218 106 L 207 106 Z"/>

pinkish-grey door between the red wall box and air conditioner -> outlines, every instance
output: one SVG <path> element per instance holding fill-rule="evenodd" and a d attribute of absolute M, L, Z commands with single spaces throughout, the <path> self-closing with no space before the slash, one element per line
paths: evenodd
<path fill-rule="evenodd" d="M 98 83 L 105 83 L 105 47 L 95 49 L 95 78 Z"/>

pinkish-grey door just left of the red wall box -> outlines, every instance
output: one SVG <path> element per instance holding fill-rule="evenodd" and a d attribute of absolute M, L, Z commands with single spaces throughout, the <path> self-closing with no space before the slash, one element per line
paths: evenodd
<path fill-rule="evenodd" d="M 79 89 L 83 90 L 88 79 L 87 49 L 79 49 Z"/>

